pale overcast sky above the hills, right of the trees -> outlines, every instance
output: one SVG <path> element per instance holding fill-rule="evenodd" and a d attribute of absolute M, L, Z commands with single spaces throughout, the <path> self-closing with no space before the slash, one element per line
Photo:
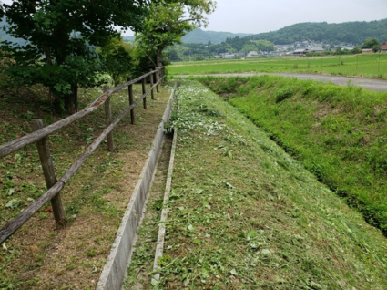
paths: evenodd
<path fill-rule="evenodd" d="M 387 18 L 387 0 L 217 0 L 203 30 L 261 33 L 301 22 L 342 23 Z"/>

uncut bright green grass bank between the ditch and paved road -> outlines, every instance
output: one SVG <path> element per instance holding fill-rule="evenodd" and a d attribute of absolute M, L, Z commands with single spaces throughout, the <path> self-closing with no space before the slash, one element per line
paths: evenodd
<path fill-rule="evenodd" d="M 387 94 L 280 77 L 202 78 L 387 234 Z"/>

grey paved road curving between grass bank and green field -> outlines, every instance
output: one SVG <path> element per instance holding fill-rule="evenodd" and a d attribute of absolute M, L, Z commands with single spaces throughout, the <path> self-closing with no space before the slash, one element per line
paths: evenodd
<path fill-rule="evenodd" d="M 332 84 L 336 84 L 340 86 L 347 86 L 348 81 L 351 80 L 351 84 L 354 86 L 369 88 L 375 91 L 387 91 L 387 80 L 373 79 L 373 78 L 353 78 L 353 77 L 341 77 L 341 76 L 331 76 L 331 75 L 293 74 L 293 73 L 235 73 L 235 74 L 211 74 L 211 75 L 200 75 L 200 76 L 251 77 L 251 76 L 262 76 L 262 75 L 282 76 L 282 77 L 300 78 L 300 79 L 313 79 L 313 80 L 318 80 L 325 83 L 331 82 Z M 187 78 L 189 76 L 181 75 L 176 77 Z"/>

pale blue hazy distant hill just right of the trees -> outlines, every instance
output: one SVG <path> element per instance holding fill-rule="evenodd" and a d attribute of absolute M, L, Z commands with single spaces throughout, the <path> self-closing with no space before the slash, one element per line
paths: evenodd
<path fill-rule="evenodd" d="M 249 33 L 231 33 L 231 32 L 219 32 L 219 31 L 204 31 L 200 28 L 188 32 L 186 36 L 183 36 L 181 39 L 183 43 L 221 43 L 227 38 L 233 38 L 236 36 L 244 37 L 250 36 Z"/>

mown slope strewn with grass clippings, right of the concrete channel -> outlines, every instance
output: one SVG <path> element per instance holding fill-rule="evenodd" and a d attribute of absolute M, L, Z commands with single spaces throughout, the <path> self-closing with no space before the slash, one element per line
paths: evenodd
<path fill-rule="evenodd" d="M 179 92 L 165 289 L 385 289 L 387 243 L 237 109 Z"/>

